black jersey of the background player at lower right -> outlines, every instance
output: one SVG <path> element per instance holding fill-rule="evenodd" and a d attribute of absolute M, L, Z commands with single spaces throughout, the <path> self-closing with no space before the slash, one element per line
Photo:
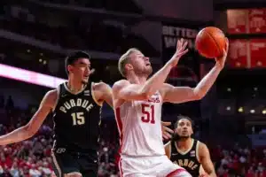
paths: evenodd
<path fill-rule="evenodd" d="M 199 141 L 193 139 L 192 148 L 182 152 L 177 149 L 176 142 L 171 142 L 171 161 L 184 167 L 184 169 L 188 173 L 191 173 L 192 176 L 200 175 L 200 162 L 197 158 L 199 143 Z"/>

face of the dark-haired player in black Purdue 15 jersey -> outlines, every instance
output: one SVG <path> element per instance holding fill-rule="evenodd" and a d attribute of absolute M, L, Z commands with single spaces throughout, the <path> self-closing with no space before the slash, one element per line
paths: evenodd
<path fill-rule="evenodd" d="M 87 84 L 90 76 L 90 60 L 88 58 L 79 58 L 74 65 L 69 65 L 69 72 L 73 73 L 74 80 Z"/>

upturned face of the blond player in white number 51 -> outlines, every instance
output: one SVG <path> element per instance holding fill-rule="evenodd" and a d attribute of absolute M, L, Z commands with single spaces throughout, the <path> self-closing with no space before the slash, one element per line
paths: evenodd
<path fill-rule="evenodd" d="M 153 73 L 153 67 L 150 58 L 145 57 L 141 51 L 134 51 L 130 55 L 130 65 L 136 74 L 150 75 Z"/>

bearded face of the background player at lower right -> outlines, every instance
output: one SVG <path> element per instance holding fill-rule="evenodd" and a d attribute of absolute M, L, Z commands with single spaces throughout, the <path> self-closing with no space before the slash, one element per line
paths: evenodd
<path fill-rule="evenodd" d="M 175 132 L 180 138 L 191 137 L 193 133 L 192 122 L 189 119 L 180 119 L 178 121 Z"/>

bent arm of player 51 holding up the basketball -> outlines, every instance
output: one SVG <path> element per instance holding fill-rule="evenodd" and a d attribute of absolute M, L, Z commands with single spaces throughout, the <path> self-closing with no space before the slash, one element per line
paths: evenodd
<path fill-rule="evenodd" d="M 160 89 L 160 93 L 163 96 L 164 102 L 170 103 L 184 103 L 194 100 L 200 100 L 206 96 L 208 90 L 215 83 L 219 73 L 223 70 L 224 63 L 228 53 L 228 40 L 226 42 L 226 49 L 223 50 L 223 56 L 216 58 L 216 64 L 209 73 L 200 81 L 196 88 L 189 87 L 174 87 L 165 83 Z"/>

